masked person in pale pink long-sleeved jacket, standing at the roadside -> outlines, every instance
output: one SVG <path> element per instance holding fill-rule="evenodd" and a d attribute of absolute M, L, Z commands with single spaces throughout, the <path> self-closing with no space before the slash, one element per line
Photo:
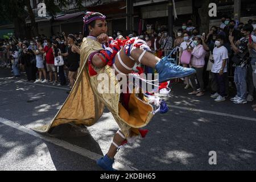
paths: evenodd
<path fill-rule="evenodd" d="M 204 80 L 203 80 L 203 72 L 204 72 L 204 65 L 205 65 L 205 50 L 202 45 L 202 39 L 201 35 L 197 35 L 195 37 L 195 40 L 193 41 L 193 44 L 195 44 L 195 47 L 193 48 L 192 59 L 191 59 L 191 65 L 192 68 L 196 70 L 196 76 L 192 75 L 190 76 L 193 92 L 190 92 L 188 94 L 190 95 L 196 95 L 198 97 L 204 95 Z M 188 50 L 191 51 L 191 50 Z M 200 84 L 200 92 L 197 92 L 196 88 L 196 81 L 195 78 L 197 78 L 199 84 Z"/>

